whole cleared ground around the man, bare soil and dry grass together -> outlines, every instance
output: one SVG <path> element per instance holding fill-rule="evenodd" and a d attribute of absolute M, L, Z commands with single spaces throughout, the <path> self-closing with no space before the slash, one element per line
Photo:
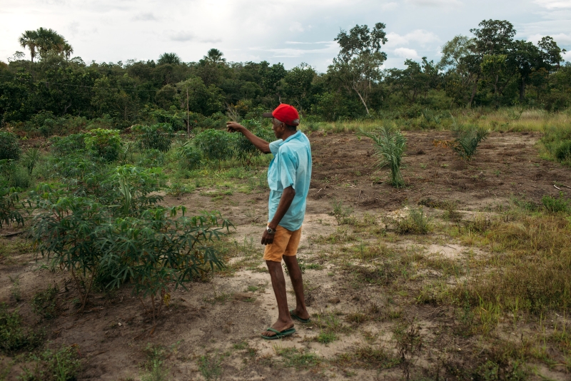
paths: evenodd
<path fill-rule="evenodd" d="M 154 329 L 126 287 L 77 314 L 68 275 L 41 269 L 18 235 L 0 241 L 0 302 L 54 345 L 77 345 L 81 380 L 568 380 L 571 222 L 541 205 L 568 198 L 570 168 L 540 159 L 538 133 L 492 133 L 469 163 L 433 144 L 448 131 L 406 136 L 397 190 L 367 138 L 310 134 L 299 258 L 313 321 L 293 337 L 259 337 L 277 316 L 258 243 L 262 171 L 166 197 L 220 210 L 236 230 L 227 268 L 174 290 Z M 41 319 L 29 301 L 54 284 L 56 317 Z M 1 358 L 0 377 L 16 380 L 16 360 Z"/>

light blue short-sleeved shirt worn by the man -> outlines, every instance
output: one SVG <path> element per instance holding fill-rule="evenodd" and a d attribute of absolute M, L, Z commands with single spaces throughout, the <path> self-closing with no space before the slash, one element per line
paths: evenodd
<path fill-rule="evenodd" d="M 270 143 L 270 151 L 274 158 L 268 168 L 268 185 L 270 200 L 268 201 L 269 221 L 278 210 L 280 198 L 285 188 L 292 186 L 295 197 L 290 208 L 279 225 L 288 230 L 301 228 L 305 217 L 305 205 L 311 180 L 311 147 L 309 139 L 301 131 L 294 133 L 283 141 Z"/>

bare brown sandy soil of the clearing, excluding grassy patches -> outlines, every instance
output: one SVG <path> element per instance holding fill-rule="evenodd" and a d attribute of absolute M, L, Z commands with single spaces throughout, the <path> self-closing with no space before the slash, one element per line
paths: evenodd
<path fill-rule="evenodd" d="M 386 182 L 388 169 L 375 169 L 374 148 L 368 138 L 359 139 L 352 133 L 310 135 L 313 178 L 298 258 L 315 264 L 303 274 L 313 322 L 296 324 L 293 337 L 266 341 L 259 336 L 277 317 L 270 278 L 264 272 L 263 247 L 258 243 L 267 213 L 268 193 L 262 189 L 218 199 L 209 196 L 207 190 L 166 197 L 165 203 L 186 205 L 194 211 L 220 210 L 233 222 L 236 230 L 228 239 L 236 247 L 229 252 L 234 271 L 219 273 L 208 282 L 191 283 L 186 291 L 173 291 L 171 303 L 152 334 L 151 317 L 128 287 L 95 295 L 86 311 L 77 314 L 71 303 L 77 294 L 73 283 L 66 283 L 69 275 L 39 269 L 41 258 L 30 253 L 25 243 L 19 252 L 0 259 L 0 302 L 19 308 L 27 324 L 46 327 L 49 340 L 55 344 L 78 345 L 84 363 L 79 380 L 140 380 L 145 373 L 141 364 L 146 361 L 143 350 L 148 343 L 167 348 L 164 364 L 172 380 L 203 380 L 208 366 L 219 369 L 221 380 L 401 380 L 405 377 L 402 366 L 382 369 L 363 361 L 343 360 L 348 358 L 343 354 L 371 345 L 395 352 L 390 333 L 398 323 L 395 319 L 348 320 L 348 316 L 370 311 L 371 306 L 389 311 L 389 315 L 393 311 L 402 322 L 415 317 L 424 343 L 423 352 L 411 361 L 411 374 L 417 379 L 421 375 L 427 380 L 436 380 L 438 375 L 459 379 L 450 364 L 468 366 L 478 354 L 473 352 L 474 338 L 441 335 L 455 325 L 450 307 L 415 303 L 413 295 L 402 289 L 390 295 L 390 288 L 368 282 L 366 277 L 356 284 L 356 273 L 339 261 L 328 260 L 328 255 L 333 258 L 338 250 L 335 243 L 325 239 L 339 228 L 332 215 L 333 203 L 353 208 L 354 215 L 369 213 L 381 220 L 418 203 L 453 201 L 463 218 L 470 218 L 471 213 L 501 210 L 513 197 L 540 203 L 543 195 L 555 196 L 560 190 L 568 193 L 571 170 L 539 158 L 535 143 L 540 136 L 536 133 L 492 133 L 470 163 L 460 161 L 449 148 L 433 145 L 435 140 L 450 139 L 447 131 L 408 132 L 406 137 L 408 151 L 402 171 L 407 186 L 397 190 Z M 2 240 L 23 242 L 18 236 Z M 425 242 L 398 239 L 390 244 L 407 250 L 413 247 L 426 257 L 437 255 L 458 261 L 468 249 L 442 237 Z M 16 277 L 21 288 L 19 303 L 11 299 Z M 34 293 L 53 283 L 59 285 L 61 315 L 39 321 L 29 301 Z M 412 283 L 411 290 L 416 287 Z M 288 298 L 290 305 L 295 305 L 292 293 Z M 324 316 L 337 316 L 347 327 L 338 331 L 338 340 L 326 344 L 315 341 Z M 314 357 L 293 362 L 288 353 Z M 440 370 L 445 358 L 448 365 Z M 204 359 L 213 360 L 208 365 Z M 4 358 L 0 364 L 7 369 L 9 360 Z M 13 365 L 6 380 L 16 380 L 20 369 L 21 364 Z M 542 377 L 569 380 L 561 369 L 542 365 L 537 369 Z M 537 375 L 533 378 L 540 379 Z"/>

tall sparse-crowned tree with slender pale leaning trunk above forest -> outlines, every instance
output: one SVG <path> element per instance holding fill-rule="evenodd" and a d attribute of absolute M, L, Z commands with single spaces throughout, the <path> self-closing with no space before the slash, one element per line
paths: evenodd
<path fill-rule="evenodd" d="M 380 51 L 387 42 L 385 28 L 385 24 L 377 23 L 373 30 L 367 25 L 356 25 L 349 33 L 342 29 L 335 38 L 341 50 L 328 68 L 341 86 L 357 93 L 367 113 L 372 82 L 380 79 L 380 66 L 387 59 L 387 54 Z"/>

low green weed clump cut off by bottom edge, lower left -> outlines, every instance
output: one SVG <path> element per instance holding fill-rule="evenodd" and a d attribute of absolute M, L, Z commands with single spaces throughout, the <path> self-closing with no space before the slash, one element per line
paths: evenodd
<path fill-rule="evenodd" d="M 81 370 L 79 351 L 75 346 L 60 347 L 58 350 L 47 349 L 40 355 L 31 355 L 34 368 L 24 366 L 22 381 L 72 381 Z"/>

